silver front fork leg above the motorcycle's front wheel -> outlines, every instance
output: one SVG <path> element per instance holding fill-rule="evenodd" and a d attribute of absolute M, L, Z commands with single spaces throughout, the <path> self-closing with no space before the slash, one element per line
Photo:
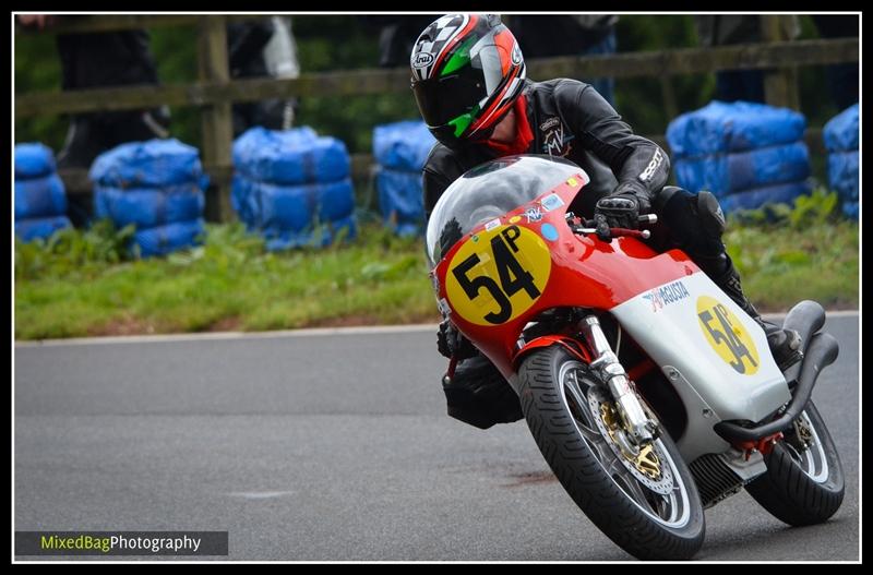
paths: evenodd
<path fill-rule="evenodd" d="M 600 372 L 607 383 L 612 398 L 618 406 L 624 429 L 630 432 L 634 443 L 644 445 L 655 439 L 658 424 L 646 416 L 639 399 L 636 396 L 624 368 L 600 328 L 600 321 L 595 315 L 588 315 L 579 322 L 579 328 L 589 349 L 596 356 L 590 363 L 593 369 Z"/>

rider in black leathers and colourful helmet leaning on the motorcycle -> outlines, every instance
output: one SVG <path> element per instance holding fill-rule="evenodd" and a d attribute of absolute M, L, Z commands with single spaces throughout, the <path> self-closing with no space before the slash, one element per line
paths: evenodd
<path fill-rule="evenodd" d="M 665 187 L 667 154 L 633 133 L 588 84 L 533 82 L 512 32 L 495 14 L 447 14 L 419 35 L 410 56 L 418 108 L 438 140 L 423 168 L 424 213 L 465 171 L 512 154 L 561 156 L 590 177 L 570 206 L 594 215 L 598 233 L 634 228 L 639 214 L 659 216 L 659 249 L 679 247 L 765 330 L 780 368 L 800 359 L 800 335 L 764 322 L 745 298 L 725 251 L 725 217 L 716 197 Z M 521 419 L 515 392 L 500 372 L 443 322 L 439 348 L 463 358 L 443 385 L 449 414 L 486 429 Z"/>

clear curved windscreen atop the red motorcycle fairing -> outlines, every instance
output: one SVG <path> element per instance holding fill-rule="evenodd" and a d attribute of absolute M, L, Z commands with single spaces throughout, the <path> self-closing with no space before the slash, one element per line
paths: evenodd
<path fill-rule="evenodd" d="M 506 156 L 467 171 L 443 192 L 428 220 L 431 267 L 479 224 L 533 202 L 581 171 L 564 158 L 533 154 Z"/>

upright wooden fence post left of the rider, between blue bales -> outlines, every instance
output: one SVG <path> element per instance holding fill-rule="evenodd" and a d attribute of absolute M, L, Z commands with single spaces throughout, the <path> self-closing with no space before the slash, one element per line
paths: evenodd
<path fill-rule="evenodd" d="M 198 26 L 198 77 L 201 82 L 227 83 L 230 67 L 227 58 L 227 28 L 225 16 L 203 16 Z M 230 103 L 216 103 L 202 108 L 203 164 L 230 169 L 230 146 L 234 140 L 234 118 Z M 211 175 L 215 176 L 215 175 Z M 218 217 L 230 221 L 230 185 L 226 178 L 213 183 L 218 193 Z"/>

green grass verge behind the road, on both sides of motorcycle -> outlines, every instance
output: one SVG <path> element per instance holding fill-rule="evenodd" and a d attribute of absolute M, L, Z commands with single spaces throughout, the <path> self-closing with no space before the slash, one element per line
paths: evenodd
<path fill-rule="evenodd" d="M 267 252 L 240 225 L 204 245 L 131 259 L 106 223 L 15 243 L 15 337 L 283 330 L 439 320 L 420 239 L 378 224 L 327 249 Z M 729 221 L 725 243 L 761 311 L 802 299 L 858 308 L 858 224 L 816 194 Z"/>

